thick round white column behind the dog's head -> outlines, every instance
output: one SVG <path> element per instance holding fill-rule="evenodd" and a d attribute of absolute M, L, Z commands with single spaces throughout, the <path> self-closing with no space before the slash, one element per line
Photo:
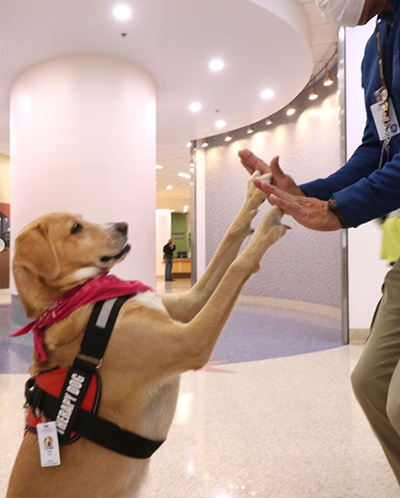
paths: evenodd
<path fill-rule="evenodd" d="M 111 57 L 43 62 L 13 84 L 10 131 L 11 242 L 51 211 L 126 221 L 132 250 L 113 273 L 155 286 L 153 79 Z"/>

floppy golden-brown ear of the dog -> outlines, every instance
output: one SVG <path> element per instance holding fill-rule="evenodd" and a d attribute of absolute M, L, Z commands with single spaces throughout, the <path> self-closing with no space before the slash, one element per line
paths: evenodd
<path fill-rule="evenodd" d="M 45 226 L 38 224 L 18 235 L 15 240 L 13 264 L 20 265 L 46 280 L 55 280 L 58 277 L 58 257 Z"/>

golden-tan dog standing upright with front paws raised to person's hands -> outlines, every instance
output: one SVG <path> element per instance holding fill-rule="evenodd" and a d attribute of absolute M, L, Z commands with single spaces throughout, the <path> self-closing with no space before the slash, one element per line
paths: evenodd
<path fill-rule="evenodd" d="M 242 209 L 204 275 L 186 293 L 139 292 L 121 308 L 99 372 L 98 415 L 144 438 L 166 438 L 177 402 L 179 374 L 209 360 L 239 293 L 265 251 L 284 233 L 282 212 L 270 209 L 244 251 L 265 194 L 248 181 Z M 15 243 L 13 271 L 29 317 L 38 319 L 70 292 L 122 260 L 129 250 L 123 223 L 91 224 L 68 213 L 30 223 Z M 33 376 L 68 369 L 79 353 L 93 303 L 85 304 L 42 336 L 45 361 L 34 353 Z M 44 357 L 42 358 L 42 360 Z M 9 497 L 135 496 L 149 459 L 121 455 L 81 437 L 61 446 L 61 465 L 40 465 L 37 436 L 28 432 L 10 478 Z"/>

